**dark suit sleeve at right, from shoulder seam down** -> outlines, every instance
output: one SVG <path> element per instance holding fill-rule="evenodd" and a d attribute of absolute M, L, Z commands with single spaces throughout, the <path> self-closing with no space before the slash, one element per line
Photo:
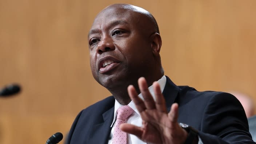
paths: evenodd
<path fill-rule="evenodd" d="M 229 93 L 218 93 L 208 101 L 199 137 L 204 144 L 255 144 L 243 106 Z"/>

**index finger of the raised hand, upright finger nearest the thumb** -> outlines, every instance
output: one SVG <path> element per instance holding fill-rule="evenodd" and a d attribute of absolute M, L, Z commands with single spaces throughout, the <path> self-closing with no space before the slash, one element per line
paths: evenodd
<path fill-rule="evenodd" d="M 129 94 L 131 100 L 133 100 L 133 102 L 134 102 L 136 108 L 138 109 L 138 111 L 140 113 L 143 112 L 146 109 L 145 104 L 144 104 L 143 100 L 141 100 L 139 98 L 138 93 L 136 92 L 133 85 L 129 85 L 127 90 L 128 90 L 128 94 Z"/>

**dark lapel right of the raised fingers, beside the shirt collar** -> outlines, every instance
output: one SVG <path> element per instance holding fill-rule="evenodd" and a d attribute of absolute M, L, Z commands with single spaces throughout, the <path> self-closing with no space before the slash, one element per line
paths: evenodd
<path fill-rule="evenodd" d="M 171 109 L 171 105 L 175 103 L 176 98 L 179 93 L 179 87 L 175 85 L 169 77 L 166 76 L 166 84 L 164 87 L 163 95 L 166 103 L 167 111 L 169 112 Z"/>

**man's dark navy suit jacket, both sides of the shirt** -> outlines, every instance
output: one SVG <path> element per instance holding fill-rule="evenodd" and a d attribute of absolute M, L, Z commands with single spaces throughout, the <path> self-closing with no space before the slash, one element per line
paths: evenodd
<path fill-rule="evenodd" d="M 254 143 L 244 109 L 233 95 L 176 86 L 168 77 L 163 95 L 168 111 L 173 103 L 179 104 L 178 121 L 197 129 L 204 144 Z M 110 96 L 81 111 L 71 127 L 67 144 L 106 144 L 114 105 L 115 98 Z"/>

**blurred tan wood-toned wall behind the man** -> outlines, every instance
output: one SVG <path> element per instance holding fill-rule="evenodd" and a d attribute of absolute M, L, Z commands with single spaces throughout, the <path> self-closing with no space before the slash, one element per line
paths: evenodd
<path fill-rule="evenodd" d="M 174 83 L 256 102 L 255 0 L 0 0 L 0 87 L 23 88 L 0 97 L 1 144 L 45 143 L 58 131 L 65 139 L 83 108 L 111 95 L 92 77 L 87 33 L 113 3 L 153 14 Z"/>

